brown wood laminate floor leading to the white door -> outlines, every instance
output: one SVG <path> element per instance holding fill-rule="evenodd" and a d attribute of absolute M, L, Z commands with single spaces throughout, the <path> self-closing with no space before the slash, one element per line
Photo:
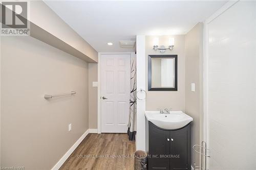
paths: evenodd
<path fill-rule="evenodd" d="M 89 134 L 60 169 L 134 169 L 134 152 L 135 141 L 127 134 Z"/>

